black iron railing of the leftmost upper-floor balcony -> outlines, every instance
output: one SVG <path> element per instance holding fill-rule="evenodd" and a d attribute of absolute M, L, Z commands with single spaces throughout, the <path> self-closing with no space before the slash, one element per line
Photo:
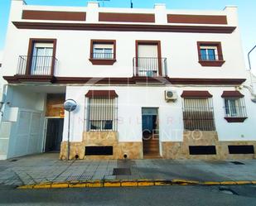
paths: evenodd
<path fill-rule="evenodd" d="M 57 59 L 45 55 L 20 55 L 17 63 L 19 75 L 54 75 Z"/>

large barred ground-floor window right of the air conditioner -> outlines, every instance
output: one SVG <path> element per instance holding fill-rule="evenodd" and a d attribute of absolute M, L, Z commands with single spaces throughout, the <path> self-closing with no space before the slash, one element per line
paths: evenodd
<path fill-rule="evenodd" d="M 186 130 L 215 131 L 211 98 L 184 98 L 183 121 Z"/>

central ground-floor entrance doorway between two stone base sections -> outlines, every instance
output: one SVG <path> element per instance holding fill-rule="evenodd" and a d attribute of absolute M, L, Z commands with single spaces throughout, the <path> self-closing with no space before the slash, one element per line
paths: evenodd
<path fill-rule="evenodd" d="M 142 108 L 143 155 L 159 156 L 158 108 Z"/>

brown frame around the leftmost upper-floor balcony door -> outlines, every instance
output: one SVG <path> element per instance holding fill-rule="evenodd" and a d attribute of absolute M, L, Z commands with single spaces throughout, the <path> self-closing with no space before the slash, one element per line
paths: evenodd
<path fill-rule="evenodd" d="M 56 39 L 41 39 L 41 38 L 30 38 L 28 43 L 27 50 L 27 65 L 26 65 L 26 74 L 31 75 L 31 64 L 32 64 L 32 53 L 35 43 L 51 43 L 53 44 L 53 52 L 52 52 L 52 61 L 51 61 L 51 76 L 54 75 L 54 69 L 56 65 Z"/>

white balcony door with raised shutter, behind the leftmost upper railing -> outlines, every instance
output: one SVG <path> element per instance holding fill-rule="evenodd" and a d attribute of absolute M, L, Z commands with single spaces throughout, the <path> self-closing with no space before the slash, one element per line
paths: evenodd
<path fill-rule="evenodd" d="M 32 55 L 31 74 L 50 75 L 53 55 L 53 44 L 35 43 Z"/>

